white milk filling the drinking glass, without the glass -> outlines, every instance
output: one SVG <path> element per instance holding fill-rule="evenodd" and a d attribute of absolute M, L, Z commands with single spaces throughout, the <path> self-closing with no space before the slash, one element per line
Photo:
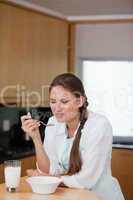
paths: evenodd
<path fill-rule="evenodd" d="M 19 185 L 21 176 L 21 167 L 5 167 L 5 184 L 6 187 L 16 188 Z"/>

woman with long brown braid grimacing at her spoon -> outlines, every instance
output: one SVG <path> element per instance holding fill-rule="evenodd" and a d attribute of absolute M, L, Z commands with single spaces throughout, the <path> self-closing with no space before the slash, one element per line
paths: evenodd
<path fill-rule="evenodd" d="M 105 200 L 123 200 L 120 186 L 111 175 L 112 128 L 102 115 L 87 111 L 81 80 L 71 73 L 58 75 L 50 85 L 53 113 L 42 144 L 40 123 L 22 116 L 22 128 L 33 139 L 38 171 L 61 178 L 68 187 L 87 188 Z"/>

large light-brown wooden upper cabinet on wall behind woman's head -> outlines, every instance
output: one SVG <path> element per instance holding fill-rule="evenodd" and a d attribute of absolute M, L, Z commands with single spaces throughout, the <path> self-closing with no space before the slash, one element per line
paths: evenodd
<path fill-rule="evenodd" d="M 67 60 L 67 21 L 0 3 L 1 98 L 46 105 L 48 85 L 67 71 Z"/>

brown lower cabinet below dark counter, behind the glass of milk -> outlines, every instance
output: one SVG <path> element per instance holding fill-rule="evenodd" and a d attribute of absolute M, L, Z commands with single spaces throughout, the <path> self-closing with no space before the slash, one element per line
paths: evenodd
<path fill-rule="evenodd" d="M 26 176 L 27 169 L 35 169 L 35 156 L 29 156 L 21 159 L 21 176 Z M 4 182 L 4 164 L 0 164 L 0 183 Z"/>

